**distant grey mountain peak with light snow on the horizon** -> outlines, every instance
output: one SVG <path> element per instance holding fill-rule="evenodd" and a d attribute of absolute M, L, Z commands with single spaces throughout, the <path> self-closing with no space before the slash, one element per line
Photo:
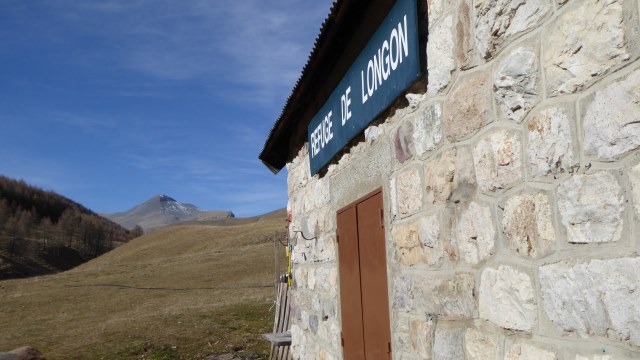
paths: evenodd
<path fill-rule="evenodd" d="M 210 221 L 235 217 L 233 212 L 228 210 L 203 211 L 195 205 L 182 203 L 168 195 L 156 195 L 125 212 L 103 214 L 103 216 L 127 229 L 139 225 L 145 232 L 186 221 Z"/>

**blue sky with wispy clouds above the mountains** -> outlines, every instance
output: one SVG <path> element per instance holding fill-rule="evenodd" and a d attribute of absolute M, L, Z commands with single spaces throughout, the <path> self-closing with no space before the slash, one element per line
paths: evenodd
<path fill-rule="evenodd" d="M 258 155 L 331 0 L 0 0 L 0 175 L 98 213 L 286 206 Z"/>

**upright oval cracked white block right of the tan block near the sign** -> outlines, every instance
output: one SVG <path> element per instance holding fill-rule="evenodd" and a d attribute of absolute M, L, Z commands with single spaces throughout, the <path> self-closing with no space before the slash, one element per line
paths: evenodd
<path fill-rule="evenodd" d="M 502 118 L 521 123 L 538 102 L 537 55 L 520 47 L 505 57 L 493 75 L 493 87 Z"/>

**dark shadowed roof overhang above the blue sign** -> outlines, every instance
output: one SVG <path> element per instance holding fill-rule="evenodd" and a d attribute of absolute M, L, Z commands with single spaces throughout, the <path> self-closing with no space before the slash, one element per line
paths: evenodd
<path fill-rule="evenodd" d="M 260 153 L 260 160 L 273 173 L 278 173 L 304 145 L 311 119 L 394 3 L 395 0 L 337 0 L 333 4 Z"/>

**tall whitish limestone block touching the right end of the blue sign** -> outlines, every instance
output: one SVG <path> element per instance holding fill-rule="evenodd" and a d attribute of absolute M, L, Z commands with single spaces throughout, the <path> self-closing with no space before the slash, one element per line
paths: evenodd
<path fill-rule="evenodd" d="M 453 53 L 453 16 L 435 25 L 427 42 L 427 94 L 436 95 L 451 82 L 456 69 Z"/>

